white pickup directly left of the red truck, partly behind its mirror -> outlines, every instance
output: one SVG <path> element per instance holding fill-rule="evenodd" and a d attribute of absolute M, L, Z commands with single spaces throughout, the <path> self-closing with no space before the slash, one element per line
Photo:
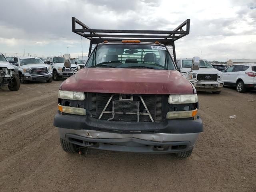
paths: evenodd
<path fill-rule="evenodd" d="M 46 61 L 44 62 L 51 66 L 52 68 L 52 78 L 53 80 L 57 81 L 63 77 L 70 77 L 73 74 L 76 74 L 77 70 L 80 70 L 80 67 L 76 64 L 71 64 L 70 67 L 64 66 L 64 57 L 47 57 Z"/>

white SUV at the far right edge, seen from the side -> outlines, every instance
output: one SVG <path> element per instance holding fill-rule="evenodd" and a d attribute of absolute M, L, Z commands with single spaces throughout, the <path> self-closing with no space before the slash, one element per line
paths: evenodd
<path fill-rule="evenodd" d="M 236 86 L 237 92 L 256 89 L 256 64 L 235 64 L 223 71 L 224 85 Z"/>

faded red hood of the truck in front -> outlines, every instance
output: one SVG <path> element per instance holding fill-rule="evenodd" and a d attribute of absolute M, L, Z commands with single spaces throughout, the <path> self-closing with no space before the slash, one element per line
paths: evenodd
<path fill-rule="evenodd" d="M 178 71 L 84 68 L 66 79 L 60 90 L 119 94 L 193 94 Z"/>

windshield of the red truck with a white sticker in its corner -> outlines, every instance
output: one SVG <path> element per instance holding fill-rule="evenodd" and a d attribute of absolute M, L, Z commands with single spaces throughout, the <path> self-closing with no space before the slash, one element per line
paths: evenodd
<path fill-rule="evenodd" d="M 91 54 L 86 67 L 175 70 L 164 46 L 143 44 L 99 45 Z"/>

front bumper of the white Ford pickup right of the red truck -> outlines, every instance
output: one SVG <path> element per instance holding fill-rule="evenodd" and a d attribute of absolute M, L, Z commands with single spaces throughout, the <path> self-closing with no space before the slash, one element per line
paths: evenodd
<path fill-rule="evenodd" d="M 190 80 L 198 91 L 220 91 L 224 85 L 224 82 L 198 82 Z"/>

